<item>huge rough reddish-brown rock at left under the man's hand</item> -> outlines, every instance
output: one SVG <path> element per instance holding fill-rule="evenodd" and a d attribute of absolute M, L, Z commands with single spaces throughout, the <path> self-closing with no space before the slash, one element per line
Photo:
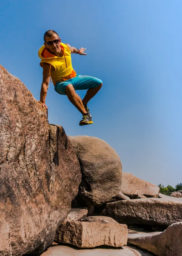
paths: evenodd
<path fill-rule="evenodd" d="M 0 66 L 0 256 L 42 252 L 66 218 L 81 180 L 61 126 Z"/>

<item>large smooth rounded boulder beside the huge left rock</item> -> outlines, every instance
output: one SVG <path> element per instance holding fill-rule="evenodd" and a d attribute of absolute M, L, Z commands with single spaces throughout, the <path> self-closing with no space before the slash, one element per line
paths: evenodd
<path fill-rule="evenodd" d="M 80 161 L 82 182 L 79 195 L 89 205 L 100 205 L 121 189 L 122 165 L 116 151 L 96 137 L 69 137 Z"/>

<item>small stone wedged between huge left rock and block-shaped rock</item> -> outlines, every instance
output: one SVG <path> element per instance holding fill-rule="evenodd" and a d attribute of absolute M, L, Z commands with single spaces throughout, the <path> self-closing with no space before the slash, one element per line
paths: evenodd
<path fill-rule="evenodd" d="M 81 221 L 87 217 L 87 207 L 71 209 L 65 221 Z"/>

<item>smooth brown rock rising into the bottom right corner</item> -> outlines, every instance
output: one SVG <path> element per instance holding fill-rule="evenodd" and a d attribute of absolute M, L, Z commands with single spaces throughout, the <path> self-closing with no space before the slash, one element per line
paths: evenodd
<path fill-rule="evenodd" d="M 182 222 L 172 224 L 163 232 L 128 234 L 128 243 L 158 256 L 182 256 Z"/>

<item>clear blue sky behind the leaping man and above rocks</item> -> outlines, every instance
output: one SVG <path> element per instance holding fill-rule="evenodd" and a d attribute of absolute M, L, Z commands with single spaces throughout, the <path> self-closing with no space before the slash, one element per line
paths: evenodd
<path fill-rule="evenodd" d="M 103 81 L 88 105 L 94 124 L 82 127 L 81 114 L 49 84 L 49 123 L 105 140 L 124 172 L 156 185 L 182 182 L 182 1 L 1 1 L 0 64 L 37 100 L 37 52 L 48 29 L 87 48 L 87 56 L 72 55 L 73 67 Z"/>

